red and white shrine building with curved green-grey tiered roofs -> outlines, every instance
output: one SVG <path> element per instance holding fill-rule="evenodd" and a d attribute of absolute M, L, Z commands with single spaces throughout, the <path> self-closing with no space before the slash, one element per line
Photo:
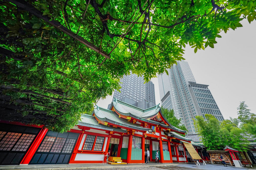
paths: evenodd
<path fill-rule="evenodd" d="M 97 106 L 66 133 L 1 120 L 0 165 L 102 163 L 108 151 L 128 164 L 145 163 L 145 149 L 151 161 L 159 150 L 161 163 L 187 162 L 184 143 L 192 144 L 185 132 L 159 105 L 143 110 L 115 99 L 110 110 Z"/>

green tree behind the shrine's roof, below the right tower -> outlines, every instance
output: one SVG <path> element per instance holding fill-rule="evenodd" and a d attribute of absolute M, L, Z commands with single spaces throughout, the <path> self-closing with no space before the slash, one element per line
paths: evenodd
<path fill-rule="evenodd" d="M 181 130 L 186 130 L 187 128 L 182 124 L 181 118 L 177 119 L 176 116 L 174 115 L 174 111 L 168 110 L 166 108 L 161 107 L 161 111 L 164 115 L 164 117 L 168 120 L 168 122 L 173 125 L 174 127 L 177 127 Z"/>

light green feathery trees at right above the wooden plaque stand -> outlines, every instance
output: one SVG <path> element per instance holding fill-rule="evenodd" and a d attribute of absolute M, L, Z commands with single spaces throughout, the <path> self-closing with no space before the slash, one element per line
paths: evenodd
<path fill-rule="evenodd" d="M 213 115 L 196 116 L 195 125 L 204 145 L 212 150 L 222 150 L 226 145 L 239 151 L 247 151 L 248 131 L 240 120 L 230 118 L 219 122 Z M 240 126 L 239 126 L 240 125 Z"/>

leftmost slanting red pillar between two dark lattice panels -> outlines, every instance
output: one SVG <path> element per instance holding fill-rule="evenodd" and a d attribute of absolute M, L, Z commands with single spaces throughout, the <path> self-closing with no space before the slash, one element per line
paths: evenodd
<path fill-rule="evenodd" d="M 48 129 L 46 129 L 46 128 L 41 129 L 41 131 L 39 132 L 38 136 L 36 137 L 35 141 L 31 145 L 30 149 L 28 150 L 27 154 L 24 156 L 24 158 L 20 164 L 29 164 L 29 162 L 31 161 L 32 157 L 34 156 L 37 148 L 39 147 L 40 143 L 44 139 L 47 131 L 48 131 Z"/>

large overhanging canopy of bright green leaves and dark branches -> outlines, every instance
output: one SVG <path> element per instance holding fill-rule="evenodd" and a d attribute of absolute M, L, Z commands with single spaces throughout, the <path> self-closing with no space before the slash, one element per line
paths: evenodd
<path fill-rule="evenodd" d="M 5 114 L 11 120 L 13 110 L 19 111 L 24 119 L 13 120 L 61 132 L 119 89 L 124 74 L 132 71 L 148 81 L 183 59 L 182 46 L 195 52 L 213 48 L 220 31 L 241 27 L 239 21 L 251 22 L 256 15 L 254 0 L 0 4 L 0 45 L 11 51 L 0 50 Z"/>

